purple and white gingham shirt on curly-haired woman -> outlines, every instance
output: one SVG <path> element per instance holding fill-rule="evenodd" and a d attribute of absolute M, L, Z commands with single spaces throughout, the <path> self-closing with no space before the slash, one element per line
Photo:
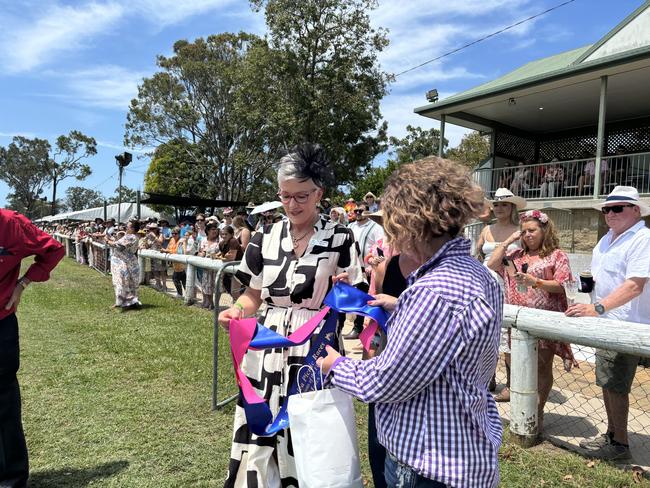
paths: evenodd
<path fill-rule="evenodd" d="M 498 358 L 503 299 L 470 242 L 447 242 L 408 278 L 388 343 L 345 359 L 337 388 L 376 403 L 379 442 L 418 474 L 449 486 L 494 487 L 501 419 L 487 390 Z"/>

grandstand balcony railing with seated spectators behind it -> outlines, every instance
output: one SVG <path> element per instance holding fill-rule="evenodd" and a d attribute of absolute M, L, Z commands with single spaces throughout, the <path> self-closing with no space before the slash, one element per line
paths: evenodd
<path fill-rule="evenodd" d="M 620 154 L 601 159 L 600 188 L 595 188 L 596 160 L 574 159 L 542 164 L 478 169 L 475 181 L 488 198 L 497 188 L 509 188 L 528 200 L 603 197 L 617 185 L 650 194 L 650 153 Z"/>

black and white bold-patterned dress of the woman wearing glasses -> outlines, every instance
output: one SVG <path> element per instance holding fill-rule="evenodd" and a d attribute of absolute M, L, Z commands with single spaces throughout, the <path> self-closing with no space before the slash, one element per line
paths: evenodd
<path fill-rule="evenodd" d="M 246 248 L 237 272 L 245 286 L 261 290 L 266 302 L 262 322 L 278 334 L 297 330 L 322 307 L 330 277 L 347 271 L 350 283 L 363 282 L 361 261 L 352 232 L 342 225 L 319 220 L 305 253 L 296 257 L 287 221 L 257 232 Z M 316 334 L 319 329 L 316 330 Z M 290 349 L 248 351 L 242 370 L 275 415 L 284 401 L 310 344 Z M 241 399 L 235 410 L 233 443 L 226 487 L 297 487 L 293 448 L 288 430 L 258 437 L 248 430 Z"/>

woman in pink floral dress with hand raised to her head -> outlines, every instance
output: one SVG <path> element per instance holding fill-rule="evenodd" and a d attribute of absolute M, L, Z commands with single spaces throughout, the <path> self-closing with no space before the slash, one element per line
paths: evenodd
<path fill-rule="evenodd" d="M 521 239 L 522 249 L 507 251 Z M 553 222 L 539 210 L 520 216 L 520 230 L 496 246 L 488 267 L 501 275 L 506 302 L 541 310 L 564 312 L 567 309 L 563 284 L 571 281 L 569 257 L 559 249 L 560 241 Z M 504 257 L 508 266 L 504 266 Z M 553 356 L 558 355 L 569 371 L 577 366 L 571 345 L 540 339 L 538 346 L 539 431 L 542 430 L 544 405 L 553 388 Z"/>

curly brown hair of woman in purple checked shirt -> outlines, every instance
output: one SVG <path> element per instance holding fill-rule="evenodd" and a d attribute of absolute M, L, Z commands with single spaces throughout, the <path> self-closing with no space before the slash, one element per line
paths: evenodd
<path fill-rule="evenodd" d="M 436 156 L 400 166 L 382 195 L 384 230 L 397 249 L 456 237 L 483 210 L 483 190 L 460 163 Z"/>

